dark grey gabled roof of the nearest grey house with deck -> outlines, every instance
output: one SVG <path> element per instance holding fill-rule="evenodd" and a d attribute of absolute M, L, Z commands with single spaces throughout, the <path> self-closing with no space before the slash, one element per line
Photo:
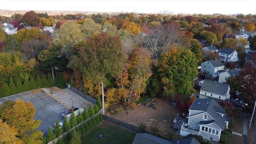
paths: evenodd
<path fill-rule="evenodd" d="M 214 99 L 212 98 L 196 98 L 193 104 L 190 106 L 189 110 L 200 110 L 205 111 L 210 117 L 213 118 L 208 121 L 199 122 L 199 124 L 210 124 L 215 123 L 220 129 L 224 129 L 226 117 L 220 116 L 217 112 L 225 112 L 226 110 L 221 110 L 222 108 Z M 225 113 L 224 113 L 225 114 Z"/>

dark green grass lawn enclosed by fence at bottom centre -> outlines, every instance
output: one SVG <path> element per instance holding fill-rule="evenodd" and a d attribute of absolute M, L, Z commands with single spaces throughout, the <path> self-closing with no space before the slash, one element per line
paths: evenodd
<path fill-rule="evenodd" d="M 102 138 L 99 138 L 99 135 Z M 136 133 L 116 124 L 102 121 L 81 136 L 82 144 L 132 144 Z"/>

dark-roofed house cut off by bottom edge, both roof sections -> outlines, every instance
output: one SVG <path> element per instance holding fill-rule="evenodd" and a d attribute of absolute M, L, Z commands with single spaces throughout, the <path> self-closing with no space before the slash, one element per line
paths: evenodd
<path fill-rule="evenodd" d="M 132 144 L 200 144 L 195 138 L 168 141 L 151 134 L 137 133 Z"/>

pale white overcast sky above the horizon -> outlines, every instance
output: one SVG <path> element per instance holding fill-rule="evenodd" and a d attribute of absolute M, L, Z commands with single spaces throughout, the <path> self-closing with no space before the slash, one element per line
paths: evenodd
<path fill-rule="evenodd" d="M 256 14 L 256 0 L 0 0 L 0 10 Z"/>

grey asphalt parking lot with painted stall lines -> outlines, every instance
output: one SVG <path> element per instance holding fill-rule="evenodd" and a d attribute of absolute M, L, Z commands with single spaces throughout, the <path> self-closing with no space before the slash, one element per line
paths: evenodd
<path fill-rule="evenodd" d="M 20 94 L 0 98 L 0 105 L 2 105 L 4 101 L 7 101 L 7 100 L 16 101 L 19 98 L 24 100 L 24 102 L 30 101 L 36 108 L 36 114 L 34 116 L 34 119 L 42 120 L 42 123 L 38 128 L 39 130 L 47 131 L 49 125 L 52 128 L 54 128 L 54 123 L 56 118 L 58 118 L 59 121 L 62 121 L 63 118 L 60 117 L 62 112 L 64 112 L 69 108 L 64 103 L 60 102 L 60 100 L 47 94 L 41 89 L 32 90 L 29 92 L 23 92 Z"/>

